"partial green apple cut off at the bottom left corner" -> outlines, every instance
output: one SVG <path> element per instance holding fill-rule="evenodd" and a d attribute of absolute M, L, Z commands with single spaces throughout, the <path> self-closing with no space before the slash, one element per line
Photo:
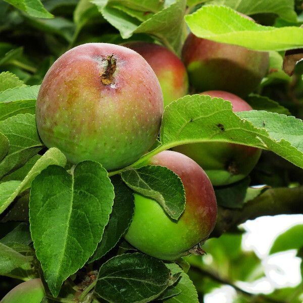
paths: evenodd
<path fill-rule="evenodd" d="M 40 303 L 45 295 L 40 279 L 32 279 L 18 284 L 0 303 Z"/>

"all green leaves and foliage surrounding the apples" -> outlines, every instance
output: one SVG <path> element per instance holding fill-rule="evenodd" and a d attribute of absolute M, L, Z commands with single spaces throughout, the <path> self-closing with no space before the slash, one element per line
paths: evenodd
<path fill-rule="evenodd" d="M 299 301 L 300 286 L 254 295 L 236 283 L 265 275 L 256 254 L 241 249 L 237 225 L 303 212 L 301 62 L 292 76 L 282 69 L 284 51 L 303 47 L 302 14 L 292 0 L 0 0 L 0 275 L 41 277 L 43 302 L 194 303 L 223 284 L 236 289 L 239 302 Z M 154 148 L 119 171 L 92 161 L 74 166 L 63 151 L 44 146 L 35 103 L 60 55 L 86 42 L 142 40 L 180 56 L 187 26 L 198 37 L 270 51 L 268 75 L 245 97 L 254 111 L 234 113 L 227 100 L 186 95 L 166 107 Z M 264 152 L 249 177 L 215 188 L 219 213 L 203 246 L 208 256 L 165 262 L 136 251 L 123 240 L 133 192 L 154 198 L 172 220 L 186 204 L 181 179 L 149 165 L 150 157 L 195 142 Z M 292 227 L 271 254 L 296 249 L 302 258 L 302 238 L 302 225 Z M 5 279 L 0 287 L 8 292 Z"/>

